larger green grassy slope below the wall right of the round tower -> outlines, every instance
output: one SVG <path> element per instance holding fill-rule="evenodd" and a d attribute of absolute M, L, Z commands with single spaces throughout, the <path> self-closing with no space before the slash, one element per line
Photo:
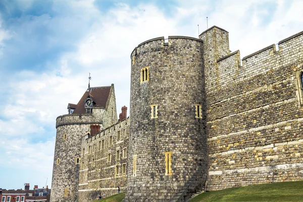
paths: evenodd
<path fill-rule="evenodd" d="M 201 193 L 190 202 L 303 201 L 303 181 L 236 187 Z"/>

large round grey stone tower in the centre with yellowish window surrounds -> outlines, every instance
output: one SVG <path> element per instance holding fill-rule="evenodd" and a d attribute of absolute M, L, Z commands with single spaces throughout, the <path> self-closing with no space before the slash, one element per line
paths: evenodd
<path fill-rule="evenodd" d="M 189 197 L 207 176 L 203 42 L 155 38 L 139 44 L 131 60 L 125 201 Z"/>

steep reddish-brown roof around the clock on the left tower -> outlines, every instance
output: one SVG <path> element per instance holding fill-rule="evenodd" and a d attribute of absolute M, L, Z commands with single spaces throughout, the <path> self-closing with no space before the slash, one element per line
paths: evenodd
<path fill-rule="evenodd" d="M 89 95 L 94 102 L 94 107 L 105 108 L 107 101 L 110 97 L 111 88 L 114 87 L 114 84 L 111 86 L 102 86 L 102 87 L 91 87 L 86 90 L 78 104 L 75 105 L 75 111 L 73 114 L 85 114 L 86 110 L 84 107 L 84 100 Z"/>

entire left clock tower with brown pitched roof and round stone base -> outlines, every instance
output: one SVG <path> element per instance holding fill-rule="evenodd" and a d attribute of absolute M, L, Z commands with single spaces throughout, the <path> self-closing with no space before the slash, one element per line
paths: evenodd
<path fill-rule="evenodd" d="M 68 112 L 56 120 L 52 202 L 78 201 L 81 137 L 117 122 L 114 84 L 88 88 Z"/>

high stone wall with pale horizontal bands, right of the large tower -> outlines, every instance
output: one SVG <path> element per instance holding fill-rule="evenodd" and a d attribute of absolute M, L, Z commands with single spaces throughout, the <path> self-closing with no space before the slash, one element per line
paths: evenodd
<path fill-rule="evenodd" d="M 300 33 L 242 66 L 236 52 L 206 68 L 216 75 L 206 84 L 208 190 L 303 179 L 302 44 Z"/>

